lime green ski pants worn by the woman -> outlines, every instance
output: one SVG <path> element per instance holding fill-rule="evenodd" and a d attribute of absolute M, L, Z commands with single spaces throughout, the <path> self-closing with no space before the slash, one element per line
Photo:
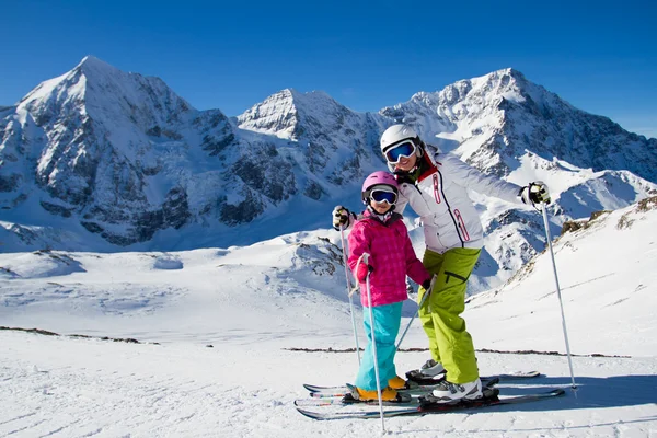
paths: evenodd
<path fill-rule="evenodd" d="M 460 314 L 465 310 L 468 278 L 481 250 L 456 247 L 439 254 L 425 251 L 423 264 L 437 278 L 431 295 L 419 309 L 422 326 L 429 337 L 431 357 L 441 362 L 452 383 L 479 378 L 472 337 Z M 426 290 L 419 288 L 422 300 Z"/>

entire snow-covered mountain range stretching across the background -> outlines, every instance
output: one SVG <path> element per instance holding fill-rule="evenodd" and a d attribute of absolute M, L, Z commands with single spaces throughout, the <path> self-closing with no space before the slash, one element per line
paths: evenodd
<path fill-rule="evenodd" d="M 379 113 L 283 90 L 228 118 L 194 110 L 158 78 L 87 57 L 0 110 L 2 249 L 183 250 L 326 227 L 333 205 L 360 208 L 362 177 L 384 169 L 378 139 L 402 120 L 485 172 L 548 182 L 554 233 L 657 189 L 656 139 L 512 69 Z M 528 208 L 475 198 L 488 231 L 481 290 L 526 263 L 542 230 Z"/>

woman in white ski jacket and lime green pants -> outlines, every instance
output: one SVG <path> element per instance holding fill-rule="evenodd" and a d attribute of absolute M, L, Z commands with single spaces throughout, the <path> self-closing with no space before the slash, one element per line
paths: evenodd
<path fill-rule="evenodd" d="M 482 396 L 472 337 L 460 314 L 465 309 L 470 274 L 483 246 L 484 231 L 468 189 L 510 203 L 550 203 L 542 182 L 525 187 L 486 175 L 452 154 L 429 149 L 413 128 L 393 125 L 381 136 L 381 152 L 399 183 L 395 212 L 407 204 L 420 217 L 426 251 L 424 266 L 437 275 L 431 295 L 419 309 L 429 338 L 431 359 L 410 378 L 433 378 L 447 371 L 434 391 L 445 402 Z M 333 210 L 333 226 L 348 228 L 355 215 L 342 206 Z M 418 300 L 426 291 L 419 288 Z"/>

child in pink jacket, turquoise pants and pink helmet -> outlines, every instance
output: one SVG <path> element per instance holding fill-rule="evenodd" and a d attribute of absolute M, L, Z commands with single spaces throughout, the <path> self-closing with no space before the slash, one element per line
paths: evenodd
<path fill-rule="evenodd" d="M 348 265 L 360 283 L 360 300 L 364 306 L 365 333 L 369 343 L 365 349 L 358 376 L 356 393 L 358 400 L 378 400 L 371 331 L 377 343 L 382 400 L 397 399 L 397 389 L 405 380 L 397 377 L 394 366 L 395 339 L 402 320 L 402 303 L 408 298 L 406 276 L 428 288 L 431 275 L 415 255 L 408 231 L 402 216 L 393 212 L 399 187 L 393 175 L 374 172 L 362 184 L 361 198 L 366 205 L 361 219 L 356 220 L 349 234 Z M 369 254 L 368 263 L 361 256 Z M 370 293 L 374 323 L 370 321 L 366 277 L 370 274 Z"/>

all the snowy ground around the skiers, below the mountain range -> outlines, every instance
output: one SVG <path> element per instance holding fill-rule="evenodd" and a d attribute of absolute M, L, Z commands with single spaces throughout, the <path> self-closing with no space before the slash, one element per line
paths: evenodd
<path fill-rule="evenodd" d="M 477 349 L 504 351 L 477 354 L 482 374 L 544 374 L 502 382 L 503 395 L 564 388 L 566 396 L 389 418 L 389 434 L 655 436 L 657 209 L 642 205 L 554 244 L 576 392 L 544 252 L 506 286 L 472 297 L 465 319 Z M 0 254 L 0 325 L 61 334 L 0 331 L 0 436 L 380 435 L 379 420 L 314 422 L 293 407 L 307 396 L 302 383 L 341 384 L 357 371 L 356 354 L 339 351 L 354 336 L 336 244 L 338 233 L 315 230 L 171 253 Z M 358 299 L 356 309 L 364 346 Z M 406 302 L 402 327 L 415 310 Z M 415 321 L 402 348 L 426 344 Z M 397 371 L 427 358 L 401 351 Z M 374 407 L 345 410 L 359 408 Z"/>

